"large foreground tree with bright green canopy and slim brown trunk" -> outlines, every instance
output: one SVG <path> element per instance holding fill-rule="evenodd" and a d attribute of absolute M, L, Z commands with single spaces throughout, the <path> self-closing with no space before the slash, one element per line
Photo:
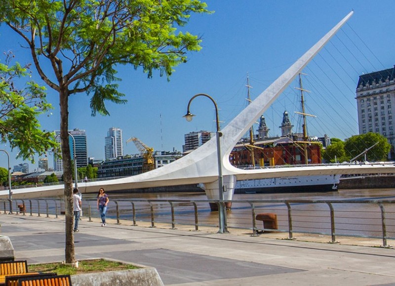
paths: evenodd
<path fill-rule="evenodd" d="M 199 0 L 1 1 L 0 23 L 26 41 L 41 79 L 59 94 L 66 263 L 75 262 L 69 96 L 87 93 L 92 115 L 108 115 L 106 101 L 126 102 L 115 83 L 117 65 L 170 76 L 189 51 L 200 49 L 199 37 L 176 33 L 177 27 L 192 13 L 206 12 Z"/>

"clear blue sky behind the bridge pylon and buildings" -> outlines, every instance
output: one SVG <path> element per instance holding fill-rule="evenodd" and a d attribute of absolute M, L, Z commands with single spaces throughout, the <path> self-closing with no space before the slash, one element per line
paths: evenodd
<path fill-rule="evenodd" d="M 247 104 L 246 75 L 254 99 L 281 75 L 298 57 L 354 9 L 344 28 L 304 70 L 304 87 L 312 92 L 305 96 L 306 112 L 317 118 L 308 120 L 309 135 L 345 139 L 358 133 L 355 89 L 358 76 L 395 64 L 393 18 L 395 1 L 266 1 L 207 0 L 213 14 L 192 15 L 184 31 L 202 37 L 202 50 L 189 55 L 189 61 L 175 68 L 170 78 L 154 74 L 153 79 L 132 67 L 118 68 L 119 90 L 126 95 L 126 105 L 107 105 L 111 116 L 91 117 L 89 98 L 85 94 L 70 97 L 70 129 L 86 130 L 88 156 L 104 158 L 104 137 L 108 128 L 123 130 L 124 142 L 138 137 L 155 150 L 182 151 L 184 134 L 191 131 L 215 131 L 212 103 L 203 97 L 195 99 L 192 122 L 182 116 L 189 99 L 197 93 L 211 95 L 218 104 L 221 126 L 226 126 Z M 22 42 L 5 26 L 0 27 L 1 51 L 12 50 L 21 63 L 31 62 Z M 2 60 L 2 59 L 1 59 Z M 33 78 L 40 82 L 33 69 Z M 294 111 L 300 111 L 297 90 L 291 84 L 265 114 L 271 129 L 279 135 L 282 113 L 287 110 L 301 129 Z M 59 107 L 56 92 L 49 89 L 52 115 L 42 116 L 42 128 L 59 129 Z M 254 127 L 256 129 L 257 126 Z M 9 151 L 8 146 L 0 149 Z M 125 154 L 136 154 L 132 143 Z M 11 166 L 22 163 L 10 153 Z M 49 154 L 52 166 L 52 155 Z M 6 167 L 6 156 L 0 153 L 0 165 Z M 30 164 L 32 171 L 36 164 Z"/>

